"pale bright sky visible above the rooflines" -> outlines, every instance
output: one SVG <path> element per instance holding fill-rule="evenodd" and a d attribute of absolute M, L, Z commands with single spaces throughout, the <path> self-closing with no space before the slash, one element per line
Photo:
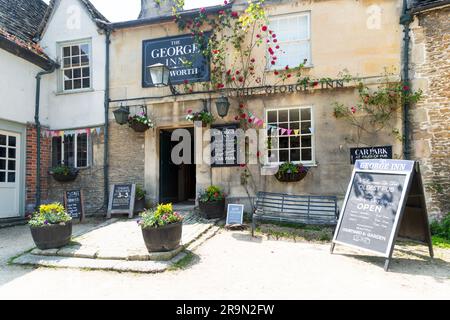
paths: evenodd
<path fill-rule="evenodd" d="M 49 0 L 44 0 L 49 2 Z M 141 9 L 141 0 L 90 0 L 112 22 L 134 20 Z M 185 9 L 222 4 L 223 0 L 185 0 Z"/>

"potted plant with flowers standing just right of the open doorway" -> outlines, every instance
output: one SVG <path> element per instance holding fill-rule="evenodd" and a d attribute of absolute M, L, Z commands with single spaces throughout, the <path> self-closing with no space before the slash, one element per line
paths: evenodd
<path fill-rule="evenodd" d="M 206 219 L 223 218 L 225 216 L 225 193 L 218 186 L 210 186 L 199 195 L 199 208 Z"/>

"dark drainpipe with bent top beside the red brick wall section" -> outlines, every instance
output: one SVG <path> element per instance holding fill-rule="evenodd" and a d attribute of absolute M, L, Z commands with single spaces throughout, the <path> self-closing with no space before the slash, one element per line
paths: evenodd
<path fill-rule="evenodd" d="M 50 70 L 41 71 L 36 75 L 36 104 L 34 112 L 34 123 L 36 125 L 36 209 L 41 205 L 41 122 L 39 120 L 39 109 L 41 100 L 41 79 L 46 74 L 53 73 L 57 64 L 52 63 Z"/>

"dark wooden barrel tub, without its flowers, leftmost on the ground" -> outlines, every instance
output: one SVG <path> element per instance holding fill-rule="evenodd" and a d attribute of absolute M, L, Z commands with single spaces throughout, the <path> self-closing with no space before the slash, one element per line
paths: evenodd
<path fill-rule="evenodd" d="M 72 221 L 45 227 L 30 227 L 36 247 L 41 250 L 57 249 L 69 244 L 72 237 Z"/>

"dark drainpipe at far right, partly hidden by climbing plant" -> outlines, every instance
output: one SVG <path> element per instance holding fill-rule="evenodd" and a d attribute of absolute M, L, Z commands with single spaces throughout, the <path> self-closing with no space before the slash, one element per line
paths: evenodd
<path fill-rule="evenodd" d="M 403 12 L 400 17 L 400 24 L 403 25 L 403 54 L 402 54 L 402 82 L 404 85 L 410 86 L 409 79 L 409 45 L 410 39 L 410 25 L 413 21 L 413 16 L 408 10 L 407 0 L 403 0 Z M 410 129 L 409 129 L 409 102 L 403 103 L 403 157 L 406 160 L 411 158 L 411 148 L 410 148 Z"/>

